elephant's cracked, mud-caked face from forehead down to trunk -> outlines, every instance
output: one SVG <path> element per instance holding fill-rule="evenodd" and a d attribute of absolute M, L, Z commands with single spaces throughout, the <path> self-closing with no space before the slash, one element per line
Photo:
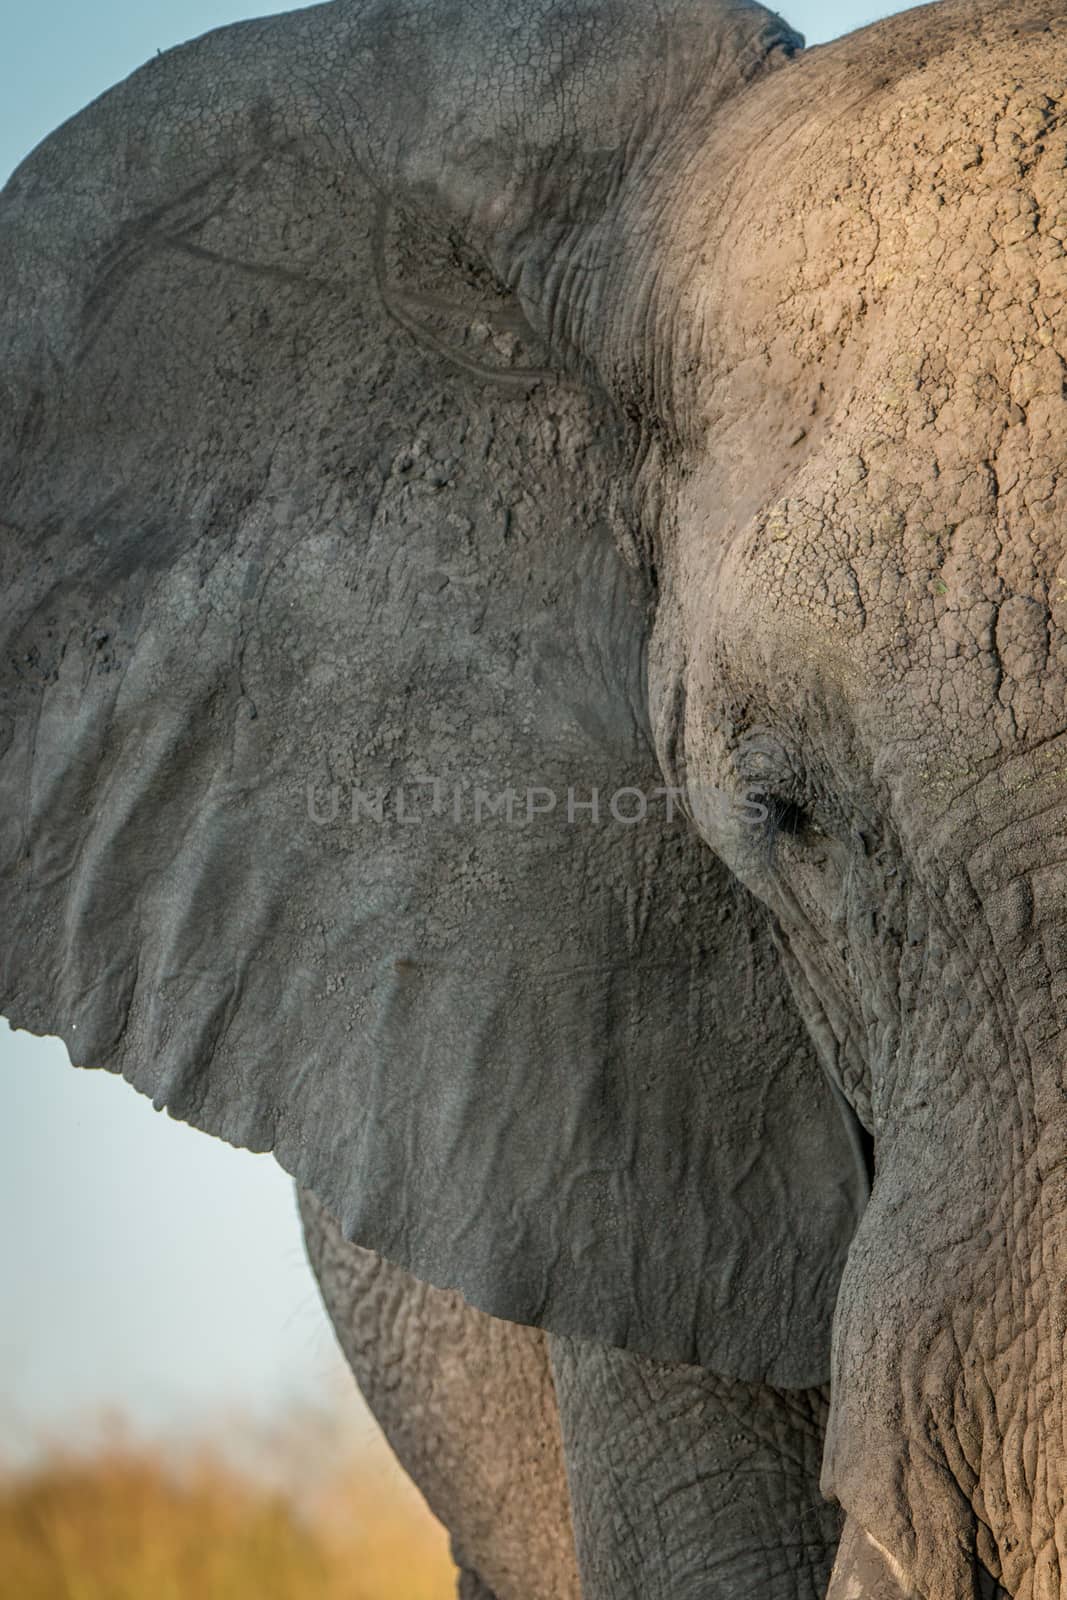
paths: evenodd
<path fill-rule="evenodd" d="M 825 1488 L 886 1592 L 1045 1600 L 1067 1570 L 1067 18 L 942 5 L 769 99 L 726 192 L 681 181 L 665 251 L 705 355 L 661 534 L 659 744 L 697 790 L 768 784 L 768 848 L 704 832 L 776 912 L 875 1139 Z"/>

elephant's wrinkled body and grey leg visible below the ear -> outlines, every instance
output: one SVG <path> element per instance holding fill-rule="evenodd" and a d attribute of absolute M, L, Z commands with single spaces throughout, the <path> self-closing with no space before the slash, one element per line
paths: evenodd
<path fill-rule="evenodd" d="M 301 1216 L 363 1397 L 453 1533 L 461 1600 L 824 1592 L 824 1389 L 545 1338 L 350 1245 L 307 1192 Z"/>

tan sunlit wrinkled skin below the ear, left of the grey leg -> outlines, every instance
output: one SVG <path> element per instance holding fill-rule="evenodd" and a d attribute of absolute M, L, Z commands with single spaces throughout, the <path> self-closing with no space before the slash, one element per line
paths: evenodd
<path fill-rule="evenodd" d="M 464 1600 L 576 1600 L 563 1445 L 539 1328 L 474 1310 L 350 1245 L 301 1194 L 341 1349 L 400 1462 L 453 1533 Z M 694 1368 L 691 1368 L 694 1370 Z"/>

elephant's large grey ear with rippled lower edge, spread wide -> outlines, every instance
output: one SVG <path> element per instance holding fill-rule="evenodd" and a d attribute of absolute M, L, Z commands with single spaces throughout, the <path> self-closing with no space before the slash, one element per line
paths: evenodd
<path fill-rule="evenodd" d="M 822 1381 L 862 1163 L 654 795 L 613 430 L 200 48 L 2 200 L 0 1005 L 486 1312 Z"/>

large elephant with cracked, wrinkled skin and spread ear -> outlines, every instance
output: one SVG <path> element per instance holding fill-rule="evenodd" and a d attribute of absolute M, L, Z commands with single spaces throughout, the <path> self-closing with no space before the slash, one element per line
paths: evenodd
<path fill-rule="evenodd" d="M 1067 19 L 331 0 L 0 197 L 0 1010 L 467 1600 L 1067 1586 Z"/>

